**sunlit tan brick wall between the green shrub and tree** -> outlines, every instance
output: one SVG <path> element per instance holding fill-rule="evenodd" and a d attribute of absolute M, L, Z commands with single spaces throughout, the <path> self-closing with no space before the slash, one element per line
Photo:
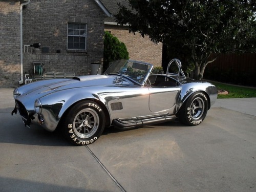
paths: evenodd
<path fill-rule="evenodd" d="M 124 42 L 130 59 L 150 62 L 154 66 L 162 65 L 162 44 L 155 44 L 148 37 L 141 37 L 139 33 L 129 33 L 128 28 L 105 25 L 105 31 L 111 31 L 120 41 Z"/>

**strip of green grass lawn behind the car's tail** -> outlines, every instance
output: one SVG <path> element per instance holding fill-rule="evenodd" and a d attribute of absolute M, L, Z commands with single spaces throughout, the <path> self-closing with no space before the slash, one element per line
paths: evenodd
<path fill-rule="evenodd" d="M 248 87 L 241 87 L 231 84 L 225 84 L 220 82 L 212 82 L 218 90 L 225 90 L 228 91 L 227 95 L 220 95 L 218 94 L 218 99 L 222 98 L 248 98 L 248 97 L 256 97 L 256 88 L 248 88 Z"/>

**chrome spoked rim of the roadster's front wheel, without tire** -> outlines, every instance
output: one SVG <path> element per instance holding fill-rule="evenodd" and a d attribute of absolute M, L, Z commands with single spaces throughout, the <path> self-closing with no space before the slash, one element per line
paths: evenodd
<path fill-rule="evenodd" d="M 83 109 L 78 112 L 73 121 L 75 134 L 83 139 L 95 134 L 99 127 L 99 116 L 93 109 Z"/>

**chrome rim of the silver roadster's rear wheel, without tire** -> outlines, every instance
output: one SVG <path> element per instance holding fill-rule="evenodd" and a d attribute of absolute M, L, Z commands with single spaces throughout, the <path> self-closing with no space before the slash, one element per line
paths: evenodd
<path fill-rule="evenodd" d="M 204 113 L 204 100 L 200 97 L 195 98 L 190 104 L 189 112 L 194 120 L 200 119 Z"/>

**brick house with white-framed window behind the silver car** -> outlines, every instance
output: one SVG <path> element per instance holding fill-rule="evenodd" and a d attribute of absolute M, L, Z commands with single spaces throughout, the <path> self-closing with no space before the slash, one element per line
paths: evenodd
<path fill-rule="evenodd" d="M 117 26 L 110 17 L 110 3 L 113 5 L 113 1 L 103 0 L 1 1 L 0 87 L 19 86 L 25 74 L 39 79 L 43 72 L 54 77 L 90 75 L 90 64 L 103 62 L 104 30 L 126 44 L 131 59 L 161 66 L 162 46 Z M 30 47 L 35 43 L 41 44 L 39 49 Z M 37 67 L 43 68 L 38 72 Z"/>

